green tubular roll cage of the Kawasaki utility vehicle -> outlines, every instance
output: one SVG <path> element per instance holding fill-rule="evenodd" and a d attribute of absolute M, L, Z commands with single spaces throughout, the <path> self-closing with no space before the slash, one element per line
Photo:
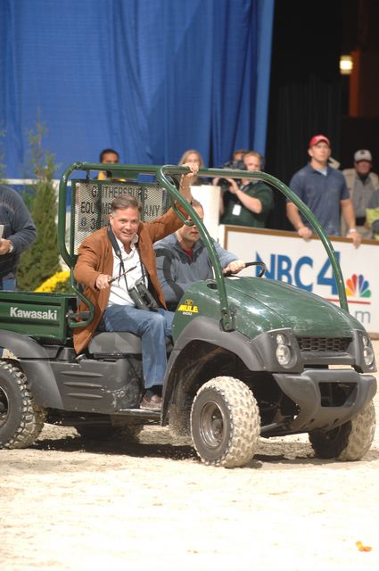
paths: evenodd
<path fill-rule="evenodd" d="M 202 241 L 204 242 L 208 254 L 210 256 L 210 261 L 212 267 L 214 269 L 214 275 L 217 283 L 217 291 L 218 291 L 218 298 L 219 298 L 219 310 L 220 310 L 220 322 L 222 327 L 225 331 L 231 331 L 234 329 L 234 315 L 233 312 L 229 308 L 229 303 L 227 300 L 227 290 L 226 290 L 226 283 L 225 279 L 222 274 L 222 269 L 220 263 L 218 261 L 218 255 L 216 249 L 213 245 L 213 242 L 210 238 L 210 235 L 207 229 L 202 224 L 202 220 L 199 218 L 199 215 L 194 210 L 193 206 L 188 203 L 185 197 L 180 194 L 177 190 L 177 186 L 175 186 L 172 182 L 171 177 L 176 177 L 180 175 L 185 175 L 189 172 L 186 167 L 175 166 L 175 165 L 140 165 L 140 164 L 107 164 L 106 167 L 103 163 L 98 162 L 73 162 L 70 167 L 68 167 L 62 174 L 62 178 L 60 181 L 59 186 L 59 216 L 58 216 L 58 244 L 59 249 L 62 255 L 63 260 L 67 263 L 70 268 L 70 282 L 71 287 L 77 296 L 86 303 L 89 314 L 87 316 L 83 316 L 86 318 L 82 321 L 78 321 L 77 319 L 70 319 L 70 327 L 85 327 L 87 326 L 94 317 L 94 307 L 93 305 L 87 300 L 87 298 L 82 294 L 78 285 L 76 284 L 72 270 L 75 265 L 75 259 L 72 256 L 72 252 L 69 252 L 67 249 L 66 244 L 66 204 L 67 204 L 67 196 L 68 190 L 67 186 L 70 181 L 70 176 L 73 172 L 76 171 L 84 171 L 86 173 L 85 180 L 87 182 L 94 181 L 91 179 L 91 171 L 99 171 L 104 170 L 106 168 L 107 172 L 109 173 L 109 177 L 118 179 L 122 178 L 123 180 L 133 181 L 135 184 L 143 184 L 138 183 L 137 178 L 140 175 L 151 175 L 155 177 L 156 181 L 158 181 L 163 188 L 169 194 L 170 202 L 173 204 L 173 208 L 177 212 L 177 216 L 183 221 L 184 224 L 190 226 L 191 224 L 196 224 L 196 227 L 199 230 L 200 235 L 202 236 Z M 248 170 L 229 170 L 229 169 L 200 169 L 198 172 L 199 177 L 204 178 L 248 178 L 251 180 L 263 180 L 264 182 L 268 183 L 270 186 L 274 186 L 276 190 L 280 191 L 284 194 L 287 198 L 289 198 L 292 203 L 294 203 L 301 213 L 305 216 L 306 219 L 309 220 L 312 227 L 315 229 L 317 236 L 320 238 L 322 244 L 325 247 L 325 251 L 328 255 L 329 261 L 331 263 L 332 269 L 334 271 L 334 278 L 337 285 L 338 296 L 340 300 L 340 306 L 343 310 L 349 312 L 349 306 L 346 298 L 345 287 L 343 283 L 342 277 L 342 270 L 340 268 L 340 264 L 337 261 L 335 256 L 334 248 L 325 234 L 324 228 L 318 222 L 317 218 L 314 216 L 312 211 L 309 210 L 309 207 L 304 204 L 301 199 L 292 192 L 292 190 L 284 185 L 278 178 L 275 178 L 271 175 L 268 175 L 266 172 L 261 171 L 248 171 Z M 171 179 L 169 179 L 169 178 Z M 188 217 L 191 218 L 192 222 L 185 219 L 183 214 L 177 210 L 174 201 L 177 201 L 185 212 L 188 214 Z M 71 213 L 72 213 L 73 201 L 71 201 Z M 80 316 L 75 316 L 76 318 Z"/>

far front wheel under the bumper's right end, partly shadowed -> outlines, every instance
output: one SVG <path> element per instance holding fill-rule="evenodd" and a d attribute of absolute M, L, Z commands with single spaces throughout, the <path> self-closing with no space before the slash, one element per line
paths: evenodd
<path fill-rule="evenodd" d="M 328 432 L 314 430 L 309 442 L 315 456 L 322 459 L 352 461 L 362 459 L 369 451 L 375 435 L 375 406 L 370 401 L 365 409 L 342 426 Z"/>

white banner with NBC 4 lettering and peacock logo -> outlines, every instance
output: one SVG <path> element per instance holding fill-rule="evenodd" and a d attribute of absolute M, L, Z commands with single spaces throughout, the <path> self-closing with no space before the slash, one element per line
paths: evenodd
<path fill-rule="evenodd" d="M 266 278 L 296 285 L 339 305 L 332 266 L 318 238 L 306 242 L 292 232 L 258 228 L 225 226 L 220 230 L 220 244 L 229 252 L 244 261 L 266 263 Z M 367 332 L 378 335 L 379 242 L 365 240 L 354 248 L 346 238 L 331 241 L 340 261 L 350 314 Z M 240 275 L 255 275 L 255 269 L 244 269 Z"/>

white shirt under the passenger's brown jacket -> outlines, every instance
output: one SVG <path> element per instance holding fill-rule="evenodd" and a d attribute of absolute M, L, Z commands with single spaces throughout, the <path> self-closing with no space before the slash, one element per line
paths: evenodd
<path fill-rule="evenodd" d="M 116 236 L 115 236 L 116 237 Z M 116 277 L 116 279 L 111 282 L 111 294 L 109 296 L 108 307 L 111 305 L 135 305 L 132 301 L 130 295 L 128 294 L 128 288 L 130 289 L 135 285 L 136 281 L 142 277 L 142 265 L 139 256 L 139 252 L 136 248 L 136 243 L 138 242 L 138 236 L 135 236 L 130 244 L 131 251 L 130 253 L 125 252 L 124 245 L 122 242 L 116 238 L 117 243 L 119 244 L 119 250 L 121 252 L 122 261 L 124 264 L 124 269 L 122 266 L 120 268 L 121 262 L 119 261 L 119 257 L 117 256 L 116 252 L 112 248 L 113 251 L 113 273 L 112 277 Z M 125 276 L 120 276 L 119 273 L 122 274 L 123 271 L 128 270 L 128 273 Z M 127 278 L 127 281 L 125 281 Z M 144 281 L 146 282 L 147 279 L 144 276 Z M 128 288 L 127 288 L 128 283 Z M 147 286 L 147 284 L 145 283 Z"/>

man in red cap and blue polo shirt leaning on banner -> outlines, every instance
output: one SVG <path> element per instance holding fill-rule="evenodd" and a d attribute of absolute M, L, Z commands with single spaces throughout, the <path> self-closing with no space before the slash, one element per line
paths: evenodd
<path fill-rule="evenodd" d="M 331 154 L 329 139 L 325 135 L 315 135 L 309 141 L 308 153 L 308 165 L 298 170 L 291 179 L 292 192 L 309 207 L 328 236 L 341 236 L 341 212 L 348 228 L 346 237 L 358 247 L 361 236 L 355 228 L 354 207 L 345 178 L 340 170 L 328 165 Z M 312 227 L 291 201 L 287 201 L 287 217 L 299 236 L 309 240 Z"/>

